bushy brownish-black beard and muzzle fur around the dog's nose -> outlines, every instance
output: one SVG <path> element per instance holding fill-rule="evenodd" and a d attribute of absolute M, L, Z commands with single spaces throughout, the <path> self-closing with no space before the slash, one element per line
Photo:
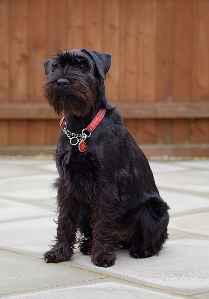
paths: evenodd
<path fill-rule="evenodd" d="M 69 80 L 66 89 L 58 89 L 56 83 L 60 78 Z M 98 84 L 93 74 L 84 74 L 75 67 L 56 68 L 47 76 L 47 81 L 43 85 L 43 95 L 57 115 L 78 117 L 88 115 L 96 101 L 97 93 Z"/>

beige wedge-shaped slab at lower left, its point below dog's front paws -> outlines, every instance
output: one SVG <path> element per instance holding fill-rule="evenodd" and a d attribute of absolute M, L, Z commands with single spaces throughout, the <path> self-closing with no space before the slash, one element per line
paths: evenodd
<path fill-rule="evenodd" d="M 1 250 L 1 294 L 90 281 L 102 275 Z"/>

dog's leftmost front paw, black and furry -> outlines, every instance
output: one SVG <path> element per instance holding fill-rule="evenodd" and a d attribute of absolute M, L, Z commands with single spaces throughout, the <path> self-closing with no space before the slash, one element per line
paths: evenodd
<path fill-rule="evenodd" d="M 70 260 L 73 255 L 72 249 L 63 250 L 60 249 L 52 249 L 50 251 L 45 252 L 44 260 L 46 263 L 60 263 L 60 261 Z"/>

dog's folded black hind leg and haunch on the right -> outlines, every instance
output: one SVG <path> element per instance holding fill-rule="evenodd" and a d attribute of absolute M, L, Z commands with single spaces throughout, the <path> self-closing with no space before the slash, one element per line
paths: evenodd
<path fill-rule="evenodd" d="M 135 258 L 157 255 L 167 239 L 169 207 L 160 197 L 150 197 L 137 214 L 135 233 L 132 235 L 130 255 Z"/>

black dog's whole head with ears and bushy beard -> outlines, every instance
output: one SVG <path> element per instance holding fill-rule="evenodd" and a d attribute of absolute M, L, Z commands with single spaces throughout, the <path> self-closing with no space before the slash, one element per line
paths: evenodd
<path fill-rule="evenodd" d="M 55 113 L 87 115 L 110 64 L 111 54 L 86 49 L 57 52 L 45 61 L 43 94 Z"/>

